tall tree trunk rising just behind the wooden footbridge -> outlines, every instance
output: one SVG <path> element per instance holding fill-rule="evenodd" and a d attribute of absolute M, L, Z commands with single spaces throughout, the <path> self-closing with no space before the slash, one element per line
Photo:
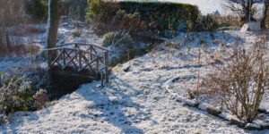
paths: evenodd
<path fill-rule="evenodd" d="M 47 29 L 47 48 L 56 47 L 57 30 L 60 19 L 59 0 L 48 1 L 48 29 Z M 48 52 L 48 65 L 56 57 L 56 52 Z"/>

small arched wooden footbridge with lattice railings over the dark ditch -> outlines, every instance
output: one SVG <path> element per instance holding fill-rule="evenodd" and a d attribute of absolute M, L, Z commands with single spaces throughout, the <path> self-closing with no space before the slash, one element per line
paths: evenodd
<path fill-rule="evenodd" d="M 48 63 L 52 71 L 84 75 L 91 80 L 101 78 L 108 82 L 108 53 L 111 51 L 105 47 L 69 43 L 45 49 L 43 52 L 48 52 L 48 58 L 52 59 L 52 62 Z"/>

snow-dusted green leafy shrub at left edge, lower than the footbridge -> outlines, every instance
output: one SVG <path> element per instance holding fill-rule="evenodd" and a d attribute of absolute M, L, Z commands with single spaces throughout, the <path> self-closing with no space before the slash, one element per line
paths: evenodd
<path fill-rule="evenodd" d="M 33 109 L 32 86 L 25 77 L 1 74 L 0 108 L 5 113 Z"/>

